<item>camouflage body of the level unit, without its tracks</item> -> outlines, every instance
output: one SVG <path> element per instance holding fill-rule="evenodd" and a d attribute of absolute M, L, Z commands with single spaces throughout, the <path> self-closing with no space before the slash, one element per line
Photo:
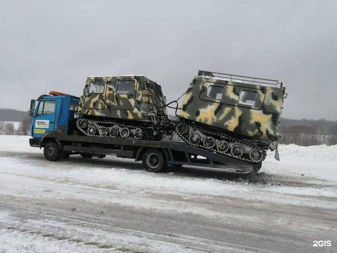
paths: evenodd
<path fill-rule="evenodd" d="M 166 115 L 161 86 L 142 75 L 88 77 L 79 114 L 93 117 L 151 121 Z"/>

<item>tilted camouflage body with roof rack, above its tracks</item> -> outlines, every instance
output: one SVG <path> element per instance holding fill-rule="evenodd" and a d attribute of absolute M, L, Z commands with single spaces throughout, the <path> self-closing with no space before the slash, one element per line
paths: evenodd
<path fill-rule="evenodd" d="M 276 80 L 199 71 L 188 87 L 179 117 L 248 138 L 275 141 L 284 90 Z"/>

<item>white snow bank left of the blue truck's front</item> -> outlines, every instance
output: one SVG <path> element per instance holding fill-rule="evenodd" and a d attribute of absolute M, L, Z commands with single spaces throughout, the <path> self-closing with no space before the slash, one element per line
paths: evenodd
<path fill-rule="evenodd" d="M 1 151 L 22 151 L 39 153 L 39 148 L 29 146 L 28 135 L 0 135 L 0 150 Z"/>

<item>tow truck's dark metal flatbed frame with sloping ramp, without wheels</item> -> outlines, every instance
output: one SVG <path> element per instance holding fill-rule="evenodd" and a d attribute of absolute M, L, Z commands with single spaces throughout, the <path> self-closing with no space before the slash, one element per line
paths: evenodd
<path fill-rule="evenodd" d="M 241 171 L 253 171 L 259 164 L 249 164 L 244 161 L 240 161 L 231 157 L 227 157 L 212 151 L 190 146 L 185 143 L 169 142 L 169 141 L 148 141 L 148 140 L 136 140 L 136 139 L 121 139 L 121 138 L 109 138 L 109 137 L 88 137 L 77 135 L 66 135 L 56 132 L 45 133 L 40 141 L 40 147 L 43 147 L 45 141 L 53 139 L 60 146 L 61 150 L 72 151 L 75 153 L 95 153 L 95 154 L 109 154 L 117 157 L 133 158 L 135 161 L 140 161 L 142 151 L 149 148 L 161 149 L 165 154 L 167 164 L 179 164 L 179 165 L 191 165 L 213 168 L 231 168 Z M 71 145 L 64 142 L 71 142 Z M 90 143 L 92 147 L 76 146 L 79 143 Z M 94 145 L 119 145 L 121 149 L 101 148 Z M 124 150 L 124 147 L 133 150 Z M 182 161 L 175 153 L 179 153 L 180 157 L 186 159 Z M 197 156 L 204 157 L 206 159 L 197 158 Z"/>

